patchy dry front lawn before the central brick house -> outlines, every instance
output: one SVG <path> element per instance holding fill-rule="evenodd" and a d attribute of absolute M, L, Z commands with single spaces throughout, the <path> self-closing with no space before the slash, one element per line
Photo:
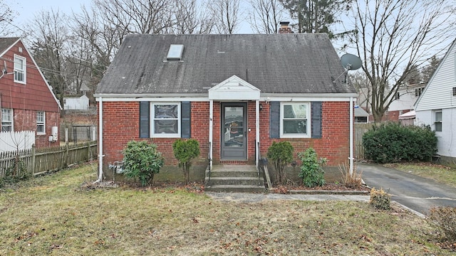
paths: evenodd
<path fill-rule="evenodd" d="M 0 255 L 452 255 L 425 220 L 398 208 L 81 186 L 95 172 L 88 165 L 1 191 Z"/>

